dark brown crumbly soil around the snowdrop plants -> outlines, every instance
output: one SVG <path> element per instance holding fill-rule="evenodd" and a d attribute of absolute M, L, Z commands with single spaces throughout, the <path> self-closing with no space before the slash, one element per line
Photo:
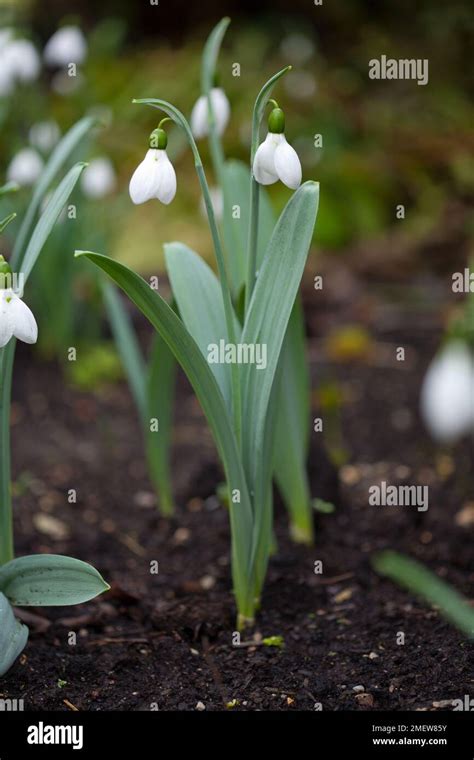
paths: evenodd
<path fill-rule="evenodd" d="M 324 710 L 433 710 L 474 693 L 472 645 L 371 567 L 376 551 L 395 548 L 474 596 L 473 452 L 468 443 L 439 450 L 418 417 L 420 382 L 440 336 L 423 298 L 429 303 L 440 283 L 421 279 L 419 297 L 400 282 L 357 279 L 342 264 L 325 277 L 323 292 L 308 288 L 305 298 L 313 416 L 325 417 L 323 381 L 337 382 L 342 406 L 340 429 L 336 415 L 329 432 L 313 434 L 310 472 L 313 495 L 333 501 L 336 511 L 317 517 L 316 545 L 303 548 L 289 540 L 277 503 L 278 551 L 256 629 L 240 648 L 232 638 L 227 513 L 214 496 L 221 473 L 184 378 L 174 452 L 178 510 L 167 521 L 154 508 L 126 386 L 79 393 L 64 385 L 57 366 L 20 347 L 12 427 L 17 553 L 79 557 L 112 590 L 81 607 L 19 611 L 27 613 L 30 641 L 2 679 L 3 696 L 23 698 L 30 710 L 194 710 L 198 703 L 220 710 L 233 700 L 235 710 L 311 710 L 316 703 Z M 372 344 L 341 361 L 327 336 L 347 323 L 369 330 Z M 395 358 L 398 346 L 404 362 Z M 339 473 L 322 441 L 346 450 Z M 368 487 L 380 480 L 429 484 L 428 511 L 368 506 Z M 76 504 L 68 503 L 71 488 Z M 158 575 L 150 573 L 153 560 Z M 316 560 L 322 575 L 314 573 Z M 262 645 L 259 634 L 283 636 L 284 647 Z"/>

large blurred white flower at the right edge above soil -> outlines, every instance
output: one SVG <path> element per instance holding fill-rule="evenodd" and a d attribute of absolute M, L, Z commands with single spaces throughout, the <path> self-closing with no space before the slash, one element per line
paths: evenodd
<path fill-rule="evenodd" d="M 461 340 L 448 343 L 428 367 L 421 413 L 433 438 L 441 442 L 474 432 L 474 353 Z"/>

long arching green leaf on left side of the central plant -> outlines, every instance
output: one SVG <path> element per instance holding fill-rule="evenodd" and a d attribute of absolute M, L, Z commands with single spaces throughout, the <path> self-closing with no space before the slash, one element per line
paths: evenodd
<path fill-rule="evenodd" d="M 221 456 L 230 489 L 239 489 L 240 503 L 231 504 L 233 577 L 239 607 L 247 604 L 249 589 L 249 546 L 252 535 L 252 506 L 239 450 L 219 386 L 199 346 L 173 309 L 139 275 L 98 253 L 77 251 L 87 256 L 121 287 L 147 317 L 183 367 L 207 417 Z"/>

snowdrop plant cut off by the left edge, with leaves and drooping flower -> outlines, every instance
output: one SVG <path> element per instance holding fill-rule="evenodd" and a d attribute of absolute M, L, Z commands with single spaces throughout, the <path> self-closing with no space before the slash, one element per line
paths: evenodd
<path fill-rule="evenodd" d="M 13 541 L 10 396 L 15 344 L 17 338 L 35 343 L 38 336 L 36 319 L 22 300 L 22 290 L 84 169 L 84 164 L 76 164 L 68 171 L 37 219 L 44 193 L 83 136 L 83 128 L 80 125 L 58 145 L 35 187 L 9 262 L 0 256 L 0 676 L 9 670 L 28 639 L 28 629 L 15 618 L 13 606 L 79 604 L 108 588 L 97 570 L 71 557 L 38 554 L 15 558 Z M 0 204 L 14 189 L 11 183 L 0 188 Z M 15 217 L 12 213 L 0 222 L 0 232 Z"/>

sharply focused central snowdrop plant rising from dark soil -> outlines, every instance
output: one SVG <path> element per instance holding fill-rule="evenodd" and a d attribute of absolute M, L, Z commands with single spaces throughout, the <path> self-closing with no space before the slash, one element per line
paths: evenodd
<path fill-rule="evenodd" d="M 217 53 L 227 25 L 228 19 L 224 19 L 206 45 L 203 92 L 209 107 L 209 138 L 213 160 L 217 162 L 216 173 L 229 188 L 211 95 Z M 272 89 L 287 70 L 275 74 L 257 97 L 250 166 L 254 164 L 260 126 Z M 218 276 L 185 244 L 167 244 L 165 257 L 175 301 L 175 308 L 172 308 L 145 280 L 123 264 L 93 252 L 77 251 L 76 255 L 88 257 L 129 296 L 155 327 L 164 347 L 163 355 L 166 357 L 169 352 L 174 356 L 195 390 L 213 433 L 225 473 L 232 535 L 233 586 L 238 625 L 243 627 L 254 620 L 260 604 L 272 547 L 272 480 L 276 461 L 277 418 L 281 411 L 280 393 L 285 383 L 290 394 L 295 388 L 292 385 L 293 378 L 285 375 L 283 348 L 285 343 L 290 353 L 293 348 L 290 323 L 292 314 L 297 313 L 295 301 L 312 240 L 319 185 L 308 181 L 294 192 L 280 218 L 272 226 L 262 250 L 259 245 L 257 179 L 252 176 L 253 206 L 250 209 L 250 175 L 246 172 L 242 204 L 247 213 L 245 221 L 242 222 L 241 217 L 238 222 L 239 228 L 242 224 L 246 225 L 246 231 L 239 229 L 237 233 L 234 228 L 233 234 L 237 234 L 240 240 L 245 237 L 247 243 L 243 249 L 237 244 L 227 248 L 223 238 L 228 238 L 229 232 L 227 236 L 222 236 L 219 230 L 206 173 L 190 124 L 181 111 L 168 101 L 148 98 L 134 102 L 164 112 L 183 130 L 187 138 L 206 206 Z M 160 122 L 158 130 L 162 127 L 163 122 Z M 161 145 L 166 147 L 164 138 L 161 135 L 158 137 L 162 140 Z M 158 197 L 159 172 L 151 163 L 148 164 L 151 158 L 147 156 L 145 160 L 146 166 L 141 165 L 138 179 L 135 174 L 131 183 L 135 198 L 143 201 Z M 241 179 L 240 167 L 238 173 Z M 295 184 L 293 176 L 292 182 Z M 242 183 L 240 186 L 243 187 Z M 235 190 L 237 183 L 233 183 L 233 187 Z M 225 187 L 224 193 L 226 194 Z M 228 193 L 227 195 L 230 197 Z M 224 221 L 224 226 L 225 223 Z M 227 215 L 228 231 L 230 224 L 231 218 Z M 232 256 L 239 260 L 231 266 Z M 231 269 L 247 272 L 245 308 L 238 308 L 241 288 L 238 279 L 232 279 Z M 115 307 L 120 311 L 120 302 L 115 301 Z M 115 325 L 120 331 L 124 322 L 116 319 Z M 127 345 L 129 337 L 130 334 L 122 330 L 124 354 L 131 350 L 130 344 Z M 220 358 L 214 361 L 211 355 L 215 356 L 216 347 L 223 347 L 223 354 L 219 354 Z M 263 363 L 248 358 L 247 352 L 255 354 L 259 349 L 265 354 Z M 247 360 L 242 359 L 243 352 L 247 355 Z M 159 362 L 159 353 L 157 356 Z M 134 377 L 135 359 L 136 354 L 128 362 L 130 375 Z M 296 351 L 297 362 L 300 359 L 301 356 Z M 295 363 L 290 361 L 290 365 L 290 370 L 294 369 L 297 374 Z M 158 382 L 160 383 L 159 375 Z M 163 388 L 161 393 L 163 394 Z M 293 407 L 292 424 L 298 435 L 301 417 L 305 414 L 305 403 L 303 400 L 300 403 L 298 398 L 288 401 L 290 407 Z M 280 441 L 288 445 L 290 433 L 288 430 L 283 432 L 286 437 L 280 436 Z M 287 455 L 291 459 L 292 452 L 287 450 Z"/>

